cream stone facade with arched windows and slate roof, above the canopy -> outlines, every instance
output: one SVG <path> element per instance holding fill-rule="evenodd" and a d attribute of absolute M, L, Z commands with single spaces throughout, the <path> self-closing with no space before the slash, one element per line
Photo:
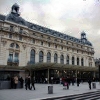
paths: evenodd
<path fill-rule="evenodd" d="M 81 39 L 77 39 L 25 20 L 25 24 L 20 24 L 23 20 L 15 22 L 7 20 L 8 16 L 1 17 L 0 65 L 15 64 L 21 67 L 39 62 L 54 63 L 56 54 L 57 63 L 95 67 L 94 48 L 86 39 L 85 32 L 81 33 Z"/>

